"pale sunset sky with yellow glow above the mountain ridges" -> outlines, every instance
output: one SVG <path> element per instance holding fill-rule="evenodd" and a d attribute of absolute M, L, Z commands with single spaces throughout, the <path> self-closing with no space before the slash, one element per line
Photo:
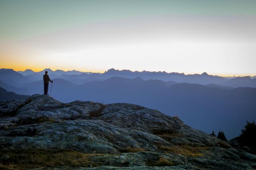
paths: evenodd
<path fill-rule="evenodd" d="M 256 75 L 256 0 L 0 0 L 0 67 Z"/>

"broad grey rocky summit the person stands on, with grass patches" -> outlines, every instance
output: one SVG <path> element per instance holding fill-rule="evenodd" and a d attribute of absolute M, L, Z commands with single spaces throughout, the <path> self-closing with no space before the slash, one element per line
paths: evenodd
<path fill-rule="evenodd" d="M 251 170 L 256 156 L 154 109 L 32 95 L 0 102 L 1 168 Z"/>

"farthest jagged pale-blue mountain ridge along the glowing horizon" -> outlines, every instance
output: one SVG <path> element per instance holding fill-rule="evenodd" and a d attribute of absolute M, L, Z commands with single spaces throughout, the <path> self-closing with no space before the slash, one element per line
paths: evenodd
<path fill-rule="evenodd" d="M 133 79 L 140 77 L 144 80 L 149 79 L 158 79 L 162 81 L 176 81 L 178 83 L 197 83 L 201 85 L 207 84 L 216 84 L 221 86 L 228 87 L 256 87 L 256 79 L 250 76 L 244 77 L 221 77 L 216 75 L 208 75 L 206 72 L 202 74 L 189 74 L 185 75 L 184 73 L 167 73 L 165 71 L 130 71 L 130 70 L 116 70 L 109 69 L 104 73 L 91 73 L 91 72 L 80 72 L 80 71 L 63 71 L 56 70 L 52 71 L 51 69 L 44 69 L 43 71 L 34 72 L 32 70 L 25 71 L 14 71 L 12 69 L 0 69 L 0 80 L 7 81 L 12 83 L 12 79 L 18 81 L 18 83 L 27 83 L 32 81 L 38 81 L 42 79 L 42 75 L 45 71 L 48 71 L 50 78 L 55 79 L 65 79 L 67 81 L 83 84 L 90 81 L 104 81 L 111 77 L 124 77 L 128 79 Z M 19 74 L 18 74 L 19 73 Z M 23 77 L 21 77 L 23 75 Z M 18 79 L 19 77 L 19 79 Z"/>

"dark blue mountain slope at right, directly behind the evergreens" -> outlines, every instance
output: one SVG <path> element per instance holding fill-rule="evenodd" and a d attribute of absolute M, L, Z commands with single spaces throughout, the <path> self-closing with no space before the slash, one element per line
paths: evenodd
<path fill-rule="evenodd" d="M 160 111 L 175 112 L 205 132 L 222 130 L 228 138 L 238 136 L 246 121 L 256 119 L 256 88 L 226 90 L 180 83 L 169 89 L 166 101 Z"/>

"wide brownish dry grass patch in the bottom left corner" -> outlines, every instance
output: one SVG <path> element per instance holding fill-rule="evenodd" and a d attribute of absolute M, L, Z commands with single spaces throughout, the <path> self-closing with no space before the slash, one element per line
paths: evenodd
<path fill-rule="evenodd" d="M 27 169 L 49 167 L 88 167 L 98 166 L 90 160 L 92 156 L 103 154 L 86 154 L 72 150 L 20 150 L 0 153 L 0 169 Z"/>

